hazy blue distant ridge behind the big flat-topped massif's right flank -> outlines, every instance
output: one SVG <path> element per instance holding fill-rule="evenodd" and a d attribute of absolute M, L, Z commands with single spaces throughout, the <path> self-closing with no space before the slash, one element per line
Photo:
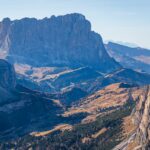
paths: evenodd
<path fill-rule="evenodd" d="M 109 55 L 122 66 L 150 73 L 150 50 L 140 47 L 131 48 L 112 42 L 105 47 Z"/>

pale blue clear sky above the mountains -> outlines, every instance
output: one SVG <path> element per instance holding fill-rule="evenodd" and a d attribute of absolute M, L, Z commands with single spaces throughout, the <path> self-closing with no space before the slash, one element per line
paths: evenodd
<path fill-rule="evenodd" d="M 150 48 L 150 0 L 0 0 L 0 20 L 73 12 L 85 15 L 104 40 Z"/>

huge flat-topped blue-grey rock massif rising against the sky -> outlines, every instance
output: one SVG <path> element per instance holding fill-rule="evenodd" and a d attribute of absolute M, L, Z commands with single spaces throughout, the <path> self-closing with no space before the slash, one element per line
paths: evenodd
<path fill-rule="evenodd" d="M 102 38 L 83 15 L 0 23 L 0 49 L 13 62 L 36 66 L 90 66 L 109 72 L 120 67 L 107 54 Z"/>

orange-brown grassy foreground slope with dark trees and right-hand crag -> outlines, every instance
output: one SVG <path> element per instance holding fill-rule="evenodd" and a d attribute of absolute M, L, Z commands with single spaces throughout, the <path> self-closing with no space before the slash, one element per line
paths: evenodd
<path fill-rule="evenodd" d="M 64 113 L 85 114 L 75 125 L 62 124 L 52 130 L 1 144 L 1 148 L 50 148 L 133 150 L 149 148 L 149 86 L 118 83 L 84 98 Z"/>

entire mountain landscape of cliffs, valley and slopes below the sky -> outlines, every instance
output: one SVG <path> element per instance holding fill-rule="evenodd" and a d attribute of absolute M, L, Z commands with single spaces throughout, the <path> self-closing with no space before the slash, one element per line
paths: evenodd
<path fill-rule="evenodd" d="M 150 51 L 75 13 L 5 18 L 0 58 L 0 149 L 149 148 Z"/>

